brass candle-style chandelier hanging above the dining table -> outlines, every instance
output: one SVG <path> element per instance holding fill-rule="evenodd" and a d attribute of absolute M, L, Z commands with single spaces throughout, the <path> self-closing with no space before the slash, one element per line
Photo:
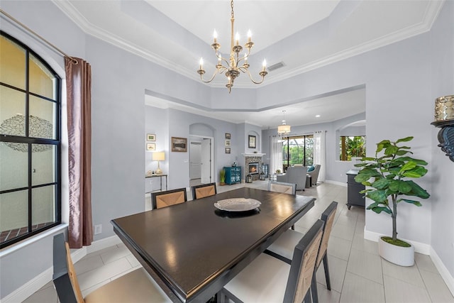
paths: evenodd
<path fill-rule="evenodd" d="M 231 51 L 230 51 L 230 57 L 222 57 L 221 53 L 218 52 L 219 48 L 221 48 L 221 45 L 218 43 L 218 35 L 216 33 L 216 30 L 214 31 L 214 43 L 211 44 L 211 48 L 214 49 L 216 53 L 216 57 L 218 57 L 218 64 L 216 64 L 216 70 L 214 71 L 213 77 L 209 80 L 205 80 L 203 75 L 205 73 L 205 70 L 203 68 L 204 60 L 200 58 L 200 68 L 197 70 L 197 73 L 200 75 L 200 79 L 202 82 L 209 83 L 213 81 L 214 77 L 216 77 L 216 74 L 222 74 L 225 72 L 225 75 L 228 79 L 228 82 L 226 84 L 226 87 L 228 88 L 228 93 L 230 94 L 231 88 L 233 87 L 233 82 L 235 81 L 236 77 L 240 75 L 240 72 L 247 73 L 249 75 L 249 78 L 252 82 L 255 84 L 260 84 L 263 82 L 265 79 L 265 76 L 267 75 L 266 71 L 266 60 L 263 60 L 263 68 L 262 70 L 258 73 L 260 77 L 262 77 L 262 80 L 257 82 L 253 79 L 252 75 L 250 75 L 249 72 L 249 64 L 248 64 L 248 56 L 250 54 L 250 49 L 253 48 L 254 43 L 250 40 L 251 39 L 251 33 L 248 31 L 248 42 L 244 45 L 245 48 L 248 50 L 247 53 L 244 55 L 240 55 L 241 51 L 243 50 L 243 47 L 240 45 L 240 35 L 236 33 L 235 40 L 233 40 L 233 23 L 235 22 L 235 18 L 233 16 L 233 0 L 231 1 Z M 225 65 L 224 65 L 225 64 Z"/>

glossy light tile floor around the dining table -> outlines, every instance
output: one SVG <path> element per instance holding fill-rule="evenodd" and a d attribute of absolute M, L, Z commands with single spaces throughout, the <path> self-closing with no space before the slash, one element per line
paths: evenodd
<path fill-rule="evenodd" d="M 267 188 L 267 181 L 218 187 L 226 192 L 237 187 Z M 295 224 L 305 232 L 319 219 L 332 201 L 338 202 L 336 221 L 328 245 L 331 291 L 326 290 L 323 265 L 317 272 L 319 302 L 454 302 L 441 275 L 428 255 L 416 253 L 416 264 L 405 268 L 382 260 L 377 243 L 364 240 L 365 209 L 347 209 L 347 188 L 334 184 L 319 184 L 298 192 L 316 197 L 316 205 Z M 188 197 L 191 193 L 188 192 Z M 145 209 L 150 209 L 150 197 Z M 83 295 L 124 275 L 140 264 L 123 244 L 86 255 L 75 264 Z M 58 302 L 52 282 L 26 299 L 30 302 Z"/>

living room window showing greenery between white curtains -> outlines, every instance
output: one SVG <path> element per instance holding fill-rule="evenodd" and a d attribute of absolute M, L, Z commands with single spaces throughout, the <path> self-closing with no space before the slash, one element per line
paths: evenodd
<path fill-rule="evenodd" d="M 294 136 L 284 138 L 282 143 L 282 162 L 284 170 L 287 167 L 301 164 L 304 166 L 314 164 L 314 136 Z"/>

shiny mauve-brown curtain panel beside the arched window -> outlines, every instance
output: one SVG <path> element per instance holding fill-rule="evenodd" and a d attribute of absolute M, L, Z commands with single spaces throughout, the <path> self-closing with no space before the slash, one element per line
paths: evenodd
<path fill-rule="evenodd" d="M 77 63 L 76 63 L 77 62 Z M 89 246 L 92 228 L 92 69 L 88 62 L 65 57 L 70 248 Z"/>

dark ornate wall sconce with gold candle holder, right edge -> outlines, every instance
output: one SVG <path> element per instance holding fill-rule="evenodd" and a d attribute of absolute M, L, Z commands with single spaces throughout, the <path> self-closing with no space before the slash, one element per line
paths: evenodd
<path fill-rule="evenodd" d="M 435 121 L 438 132 L 438 146 L 454 162 L 454 95 L 435 99 Z"/>

